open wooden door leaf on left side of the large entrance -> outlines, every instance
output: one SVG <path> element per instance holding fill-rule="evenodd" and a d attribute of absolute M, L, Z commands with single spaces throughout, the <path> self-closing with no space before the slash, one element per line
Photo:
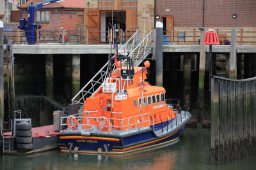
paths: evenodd
<path fill-rule="evenodd" d="M 88 27 L 89 43 L 99 43 L 100 15 L 99 10 L 86 11 L 86 26 Z"/>

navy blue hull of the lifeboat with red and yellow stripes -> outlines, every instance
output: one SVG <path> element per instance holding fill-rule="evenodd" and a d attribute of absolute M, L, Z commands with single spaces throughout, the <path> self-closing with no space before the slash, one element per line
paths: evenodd
<path fill-rule="evenodd" d="M 99 153 L 100 151 L 123 154 L 175 143 L 184 126 L 160 136 L 157 136 L 153 129 L 125 135 L 91 133 L 90 136 L 82 136 L 81 133 L 62 133 L 59 136 L 58 146 L 63 152 Z"/>

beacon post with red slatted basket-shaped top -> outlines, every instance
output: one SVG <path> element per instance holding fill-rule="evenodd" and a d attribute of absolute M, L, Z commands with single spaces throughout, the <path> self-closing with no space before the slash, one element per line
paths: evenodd
<path fill-rule="evenodd" d="M 204 34 L 204 41 L 203 45 L 210 45 L 209 46 L 209 76 L 212 76 L 212 45 L 219 45 L 220 41 L 217 36 L 217 32 L 213 29 L 209 29 L 209 31 L 205 32 Z M 211 80 L 210 83 L 210 90 L 211 90 Z"/>

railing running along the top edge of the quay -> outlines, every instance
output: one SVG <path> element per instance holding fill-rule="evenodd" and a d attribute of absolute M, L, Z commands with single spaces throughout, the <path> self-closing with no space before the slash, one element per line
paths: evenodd
<path fill-rule="evenodd" d="M 220 45 L 230 45 L 231 31 L 216 30 Z M 31 32 L 27 32 L 27 36 L 23 30 L 15 29 L 14 31 L 4 31 L 6 39 L 13 41 L 14 44 L 26 44 L 27 38 L 36 39 L 33 43 L 61 43 L 61 44 L 107 44 L 115 39 L 115 34 L 110 31 L 84 31 L 67 30 L 59 31 L 58 29 L 36 30 L 35 36 L 28 36 Z M 127 42 L 128 39 L 135 34 L 135 31 L 120 31 L 119 39 L 121 43 Z M 61 35 L 61 36 L 60 36 Z M 112 36 L 113 35 L 113 36 Z M 237 45 L 256 45 L 256 31 L 246 31 L 244 29 L 237 30 Z M 184 31 L 164 31 L 163 32 L 163 45 L 199 45 L 200 44 L 200 31 L 184 30 Z"/>

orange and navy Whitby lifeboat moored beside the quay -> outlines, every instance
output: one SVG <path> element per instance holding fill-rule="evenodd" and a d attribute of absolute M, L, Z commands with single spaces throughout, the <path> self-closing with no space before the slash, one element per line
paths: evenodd
<path fill-rule="evenodd" d="M 163 87 L 145 81 L 148 61 L 133 67 L 129 57 L 118 55 L 109 67 L 114 59 L 116 69 L 86 98 L 83 112 L 61 118 L 62 152 L 123 154 L 179 141 L 191 114 L 179 100 L 168 104 Z"/>

